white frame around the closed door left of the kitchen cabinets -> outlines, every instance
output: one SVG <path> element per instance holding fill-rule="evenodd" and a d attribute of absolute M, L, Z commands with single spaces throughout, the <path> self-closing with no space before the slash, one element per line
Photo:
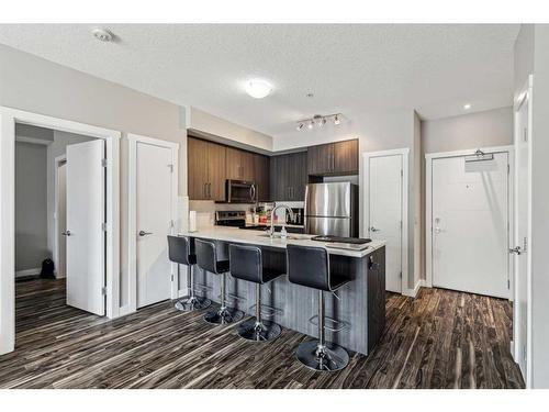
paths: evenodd
<path fill-rule="evenodd" d="M 127 274 L 128 296 L 127 305 L 121 308 L 121 313 L 132 313 L 137 310 L 137 144 L 146 143 L 154 146 L 169 148 L 171 151 L 171 164 L 173 165 L 171 178 L 171 234 L 177 233 L 177 204 L 178 204 L 178 178 L 179 178 L 179 143 L 163 141 L 148 136 L 128 133 L 128 185 L 127 185 Z M 177 266 L 171 267 L 171 299 L 179 297 L 177 278 Z"/>

